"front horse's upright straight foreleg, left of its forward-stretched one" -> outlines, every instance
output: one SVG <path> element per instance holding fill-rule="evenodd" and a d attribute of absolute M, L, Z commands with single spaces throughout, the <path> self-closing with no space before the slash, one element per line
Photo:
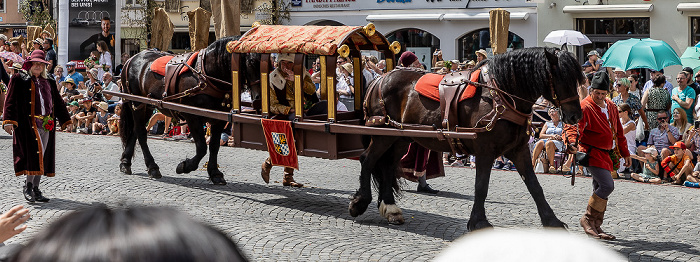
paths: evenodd
<path fill-rule="evenodd" d="M 474 231 L 482 228 L 491 228 L 493 225 L 486 219 L 484 203 L 489 193 L 489 180 L 491 178 L 491 165 L 496 156 L 484 153 L 476 155 L 476 179 L 474 181 L 474 206 L 467 222 L 467 229 Z"/>

